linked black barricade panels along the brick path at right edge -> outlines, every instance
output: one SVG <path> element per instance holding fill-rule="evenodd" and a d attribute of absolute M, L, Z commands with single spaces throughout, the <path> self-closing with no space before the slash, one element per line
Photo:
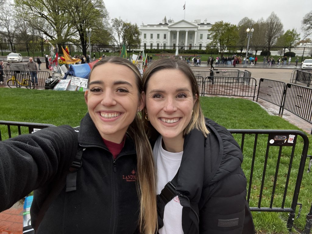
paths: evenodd
<path fill-rule="evenodd" d="M 261 78 L 258 98 L 278 105 L 280 115 L 285 109 L 312 124 L 312 88 Z"/>

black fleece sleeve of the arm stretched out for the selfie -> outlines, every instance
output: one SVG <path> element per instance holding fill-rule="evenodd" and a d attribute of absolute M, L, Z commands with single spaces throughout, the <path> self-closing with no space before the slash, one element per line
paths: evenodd
<path fill-rule="evenodd" d="M 68 169 L 77 146 L 70 126 L 0 141 L 0 212 Z"/>

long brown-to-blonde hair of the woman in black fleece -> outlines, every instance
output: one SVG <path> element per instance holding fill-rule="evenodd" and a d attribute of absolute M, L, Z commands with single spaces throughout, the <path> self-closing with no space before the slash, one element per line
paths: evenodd
<path fill-rule="evenodd" d="M 135 77 L 138 87 L 138 96 L 141 98 L 142 78 L 139 70 L 131 62 L 120 57 L 105 57 L 98 61 L 92 68 L 90 76 L 95 67 L 105 63 L 119 64 L 129 67 Z M 138 173 L 138 194 L 140 200 L 139 227 L 141 233 L 154 234 L 157 228 L 157 207 L 156 207 L 156 179 L 154 169 L 154 159 L 149 144 L 149 140 L 144 132 L 139 113 L 135 116 L 133 122 L 129 125 L 126 133 L 133 139 L 137 151 L 137 173 Z"/>

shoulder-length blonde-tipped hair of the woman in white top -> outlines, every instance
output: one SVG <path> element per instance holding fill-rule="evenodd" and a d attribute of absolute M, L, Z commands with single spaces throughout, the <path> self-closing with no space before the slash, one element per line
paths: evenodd
<path fill-rule="evenodd" d="M 199 131 L 202 132 L 202 134 L 205 137 L 207 137 L 207 135 L 209 134 L 209 131 L 206 127 L 205 116 L 202 113 L 202 108 L 199 102 L 199 90 L 198 90 L 197 80 L 192 69 L 187 63 L 181 60 L 174 60 L 174 59 L 159 59 L 159 60 L 154 61 L 143 74 L 143 91 L 146 93 L 146 88 L 149 82 L 149 78 L 155 72 L 163 70 L 163 69 L 176 69 L 178 71 L 181 71 L 189 79 L 191 83 L 191 87 L 192 87 L 193 98 L 196 99 L 195 104 L 193 106 L 193 114 L 192 114 L 191 120 L 189 124 L 186 126 L 186 128 L 184 129 L 183 136 L 190 133 L 193 129 L 198 129 Z M 197 98 L 195 96 L 196 94 L 197 94 Z M 147 136 L 150 139 L 155 140 L 158 137 L 159 133 L 152 126 L 152 124 L 148 120 L 146 120 L 145 118 L 146 114 L 144 113 L 144 110 L 142 110 L 142 116 L 144 117 L 142 119 L 144 122 L 144 126 L 146 128 L 146 131 L 147 131 Z"/>

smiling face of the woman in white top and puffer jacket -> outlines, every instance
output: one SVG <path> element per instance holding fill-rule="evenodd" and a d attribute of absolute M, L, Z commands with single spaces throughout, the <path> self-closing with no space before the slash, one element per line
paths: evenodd
<path fill-rule="evenodd" d="M 196 99 L 190 80 L 177 69 L 163 69 L 149 77 L 146 110 L 150 123 L 164 142 L 182 142 L 183 145 L 183 131 L 191 120 Z"/>

